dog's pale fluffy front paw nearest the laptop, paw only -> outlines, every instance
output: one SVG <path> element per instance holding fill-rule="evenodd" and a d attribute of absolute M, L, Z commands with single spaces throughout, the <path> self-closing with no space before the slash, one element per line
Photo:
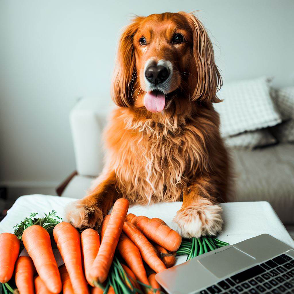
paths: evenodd
<path fill-rule="evenodd" d="M 218 205 L 183 207 L 173 220 L 178 224 L 182 237 L 216 235 L 222 230 L 221 211 Z"/>

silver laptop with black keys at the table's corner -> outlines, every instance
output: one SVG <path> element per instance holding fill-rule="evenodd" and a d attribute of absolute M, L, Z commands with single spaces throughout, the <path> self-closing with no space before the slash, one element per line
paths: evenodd
<path fill-rule="evenodd" d="M 155 278 L 169 294 L 294 293 L 294 250 L 262 234 L 200 255 Z"/>

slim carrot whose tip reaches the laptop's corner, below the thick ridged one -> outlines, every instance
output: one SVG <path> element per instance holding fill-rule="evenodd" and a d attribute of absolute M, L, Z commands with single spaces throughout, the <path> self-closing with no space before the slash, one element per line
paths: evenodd
<path fill-rule="evenodd" d="M 164 263 L 158 258 L 156 249 L 135 225 L 125 222 L 123 231 L 139 248 L 142 258 L 156 273 L 166 269 Z"/>

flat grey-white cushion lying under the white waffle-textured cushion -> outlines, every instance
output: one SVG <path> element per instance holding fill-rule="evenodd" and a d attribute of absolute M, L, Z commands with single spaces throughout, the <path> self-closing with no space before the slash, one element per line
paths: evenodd
<path fill-rule="evenodd" d="M 227 137 L 225 143 L 235 149 L 252 150 L 256 147 L 273 145 L 277 143 L 277 139 L 268 129 L 261 129 Z"/>

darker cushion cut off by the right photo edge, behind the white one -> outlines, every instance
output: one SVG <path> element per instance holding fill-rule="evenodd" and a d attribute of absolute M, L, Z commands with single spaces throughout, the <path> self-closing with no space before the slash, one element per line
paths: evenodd
<path fill-rule="evenodd" d="M 280 142 L 294 142 L 294 87 L 278 90 L 274 103 L 283 123 L 271 128 L 271 132 Z"/>

